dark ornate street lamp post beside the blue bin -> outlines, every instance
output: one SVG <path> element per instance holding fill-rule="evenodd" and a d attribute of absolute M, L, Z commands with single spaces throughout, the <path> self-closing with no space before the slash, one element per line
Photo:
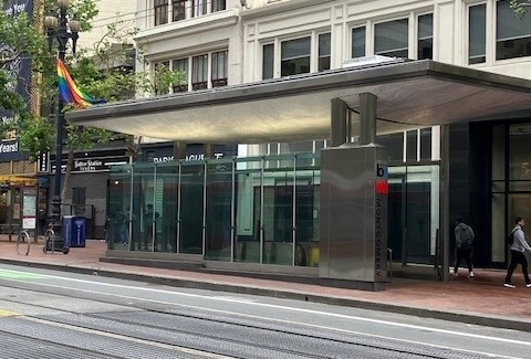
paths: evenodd
<path fill-rule="evenodd" d="M 64 62 L 66 53 L 66 45 L 69 40 L 72 40 L 72 52 L 75 53 L 75 44 L 77 42 L 77 32 L 80 31 L 80 22 L 75 19 L 67 21 L 66 9 L 69 8 L 69 0 L 58 0 L 59 10 L 50 10 L 44 19 L 44 25 L 48 29 L 48 44 L 50 51 L 52 50 L 53 40 L 59 43 L 59 60 Z M 58 18 L 59 14 L 59 18 Z M 59 88 L 59 87 L 58 87 Z M 58 112 L 56 112 L 56 144 L 55 144 L 55 177 L 54 191 L 52 198 L 52 215 L 50 218 L 53 223 L 55 237 L 61 239 L 61 165 L 63 161 L 63 130 L 64 130 L 64 113 L 63 101 L 58 91 Z M 54 244 L 52 244 L 54 245 Z"/>

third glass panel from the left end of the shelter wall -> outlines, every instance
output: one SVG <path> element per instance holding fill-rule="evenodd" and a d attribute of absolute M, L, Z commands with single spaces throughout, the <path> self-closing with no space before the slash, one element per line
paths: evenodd
<path fill-rule="evenodd" d="M 155 219 L 157 236 L 155 251 L 177 252 L 179 168 L 175 163 L 157 166 L 157 196 L 155 208 L 160 211 Z"/>

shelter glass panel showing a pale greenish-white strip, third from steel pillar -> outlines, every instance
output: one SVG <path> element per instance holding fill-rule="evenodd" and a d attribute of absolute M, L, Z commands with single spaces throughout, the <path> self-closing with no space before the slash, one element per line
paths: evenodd
<path fill-rule="evenodd" d="M 236 159 L 235 261 L 260 263 L 262 159 Z"/>

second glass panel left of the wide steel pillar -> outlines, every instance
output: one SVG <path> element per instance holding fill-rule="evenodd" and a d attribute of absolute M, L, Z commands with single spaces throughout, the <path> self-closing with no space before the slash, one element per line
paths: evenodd
<path fill-rule="evenodd" d="M 273 161 L 270 166 L 269 162 Z M 281 167 L 274 168 L 277 163 Z M 263 263 L 293 264 L 294 160 L 267 158 L 263 173 Z"/>

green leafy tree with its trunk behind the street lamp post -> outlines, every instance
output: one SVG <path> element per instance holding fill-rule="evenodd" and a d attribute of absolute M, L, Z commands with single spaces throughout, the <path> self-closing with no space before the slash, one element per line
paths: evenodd
<path fill-rule="evenodd" d="M 80 20 L 82 31 L 90 30 L 90 21 L 97 14 L 94 0 L 73 1 L 71 17 Z M 9 19 L 8 19 L 9 22 Z M 29 27 L 25 27 L 29 29 Z M 180 84 L 183 75 L 179 72 L 169 71 L 165 66 L 158 66 L 154 76 L 146 72 L 135 72 L 127 62 L 138 61 L 143 63 L 142 49 L 135 49 L 131 42 L 137 29 L 132 22 L 116 19 L 107 27 L 105 35 L 94 44 L 93 49 L 79 49 L 75 54 L 69 53 L 65 59 L 66 67 L 77 87 L 91 96 L 105 98 L 107 103 L 134 98 L 137 93 L 153 95 L 156 88 L 169 88 L 171 84 Z M 83 35 L 83 34 L 81 34 Z M 34 31 L 32 36 L 38 39 L 35 47 L 31 47 L 31 54 L 41 59 L 33 64 L 34 72 L 42 74 L 39 86 L 42 107 L 53 108 L 56 104 L 56 67 L 55 50 L 48 50 L 44 36 Z M 27 47 L 27 52 L 30 49 Z M 23 52 L 20 50 L 19 53 Z M 42 55 L 46 54 L 46 55 Z M 65 110 L 73 110 L 66 106 Z M 49 117 L 31 116 L 27 110 L 19 112 L 17 123 L 3 125 L 3 130 L 17 130 L 21 150 L 34 161 L 42 152 L 50 151 L 56 138 L 53 120 L 55 115 Z M 115 138 L 123 138 L 135 158 L 138 152 L 138 141 L 133 136 L 110 133 L 102 129 L 74 126 L 65 126 L 64 148 L 67 149 L 66 173 L 63 183 L 62 198 L 69 188 L 74 152 L 88 150 L 95 144 L 104 144 Z"/>

